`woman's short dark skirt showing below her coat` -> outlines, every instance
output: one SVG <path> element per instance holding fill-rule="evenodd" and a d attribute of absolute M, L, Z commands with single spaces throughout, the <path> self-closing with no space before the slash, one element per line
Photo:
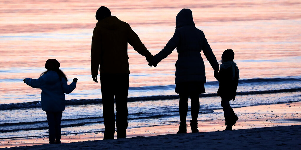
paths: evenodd
<path fill-rule="evenodd" d="M 178 94 L 203 94 L 206 93 L 203 82 L 186 82 L 175 85 L 175 92 Z"/>

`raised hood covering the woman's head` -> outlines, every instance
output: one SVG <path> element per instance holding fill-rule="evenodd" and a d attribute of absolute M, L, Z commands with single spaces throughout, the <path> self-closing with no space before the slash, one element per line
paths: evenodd
<path fill-rule="evenodd" d="M 188 8 L 182 9 L 175 17 L 176 28 L 182 26 L 195 26 L 192 18 L 192 11 Z"/>

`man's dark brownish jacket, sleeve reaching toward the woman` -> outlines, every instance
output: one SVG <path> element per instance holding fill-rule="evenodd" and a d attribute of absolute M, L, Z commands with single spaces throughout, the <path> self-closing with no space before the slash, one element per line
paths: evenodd
<path fill-rule="evenodd" d="M 91 71 L 92 76 L 102 73 L 130 73 L 128 43 L 139 54 L 151 60 L 149 52 L 128 23 L 116 16 L 108 16 L 96 23 L 92 37 Z"/>

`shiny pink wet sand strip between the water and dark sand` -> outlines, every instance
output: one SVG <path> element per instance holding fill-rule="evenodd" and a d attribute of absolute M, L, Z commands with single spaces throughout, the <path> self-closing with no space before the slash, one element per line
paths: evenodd
<path fill-rule="evenodd" d="M 254 129 L 263 127 L 277 127 L 289 125 L 301 125 L 301 102 L 259 105 L 249 107 L 234 108 L 234 112 L 239 116 L 234 130 Z M 204 115 L 216 115 L 216 119 L 206 120 Z M 210 117 L 214 118 L 214 117 Z M 223 131 L 225 129 L 222 110 L 214 110 L 214 113 L 202 114 L 198 118 L 200 133 Z M 187 132 L 191 132 L 189 123 Z M 166 134 L 175 134 L 178 131 L 178 122 L 166 123 L 166 125 L 154 125 L 147 127 L 129 127 L 127 137 L 150 137 Z M 116 137 L 115 137 L 116 138 Z M 84 142 L 103 139 L 103 132 L 62 135 L 62 143 Z M 30 137 L 1 139 L 0 148 L 15 146 L 35 146 L 48 144 L 48 137 Z"/>

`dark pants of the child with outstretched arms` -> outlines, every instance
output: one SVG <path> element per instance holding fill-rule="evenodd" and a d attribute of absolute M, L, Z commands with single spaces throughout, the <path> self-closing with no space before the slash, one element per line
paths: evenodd
<path fill-rule="evenodd" d="M 61 120 L 63 112 L 46 112 L 49 126 L 49 144 L 61 143 Z"/>

